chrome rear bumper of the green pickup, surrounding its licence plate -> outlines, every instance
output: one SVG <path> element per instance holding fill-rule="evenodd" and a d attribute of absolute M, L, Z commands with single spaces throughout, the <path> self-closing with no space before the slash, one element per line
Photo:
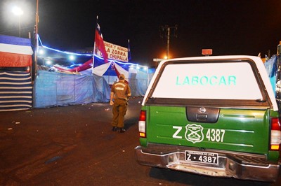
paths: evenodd
<path fill-rule="evenodd" d="M 280 165 L 266 161 L 263 155 L 204 150 L 218 153 L 218 164 L 204 164 L 185 161 L 185 150 L 199 151 L 174 145 L 148 145 L 146 148 L 136 147 L 135 154 L 139 164 L 206 176 L 274 182 L 279 174 Z"/>

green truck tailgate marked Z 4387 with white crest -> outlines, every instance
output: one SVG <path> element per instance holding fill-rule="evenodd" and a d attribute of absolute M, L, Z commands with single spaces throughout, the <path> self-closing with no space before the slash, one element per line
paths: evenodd
<path fill-rule="evenodd" d="M 190 122 L 185 106 L 150 106 L 148 143 L 266 154 L 266 110 L 220 108 L 216 122 Z M 150 117 L 153 115 L 153 117 Z"/>

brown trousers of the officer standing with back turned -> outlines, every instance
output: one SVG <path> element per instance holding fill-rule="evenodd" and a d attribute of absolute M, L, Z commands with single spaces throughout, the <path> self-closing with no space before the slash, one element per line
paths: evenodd
<path fill-rule="evenodd" d="M 112 127 L 124 127 L 124 117 L 127 111 L 127 101 L 125 99 L 115 99 L 112 108 L 113 119 Z"/>

